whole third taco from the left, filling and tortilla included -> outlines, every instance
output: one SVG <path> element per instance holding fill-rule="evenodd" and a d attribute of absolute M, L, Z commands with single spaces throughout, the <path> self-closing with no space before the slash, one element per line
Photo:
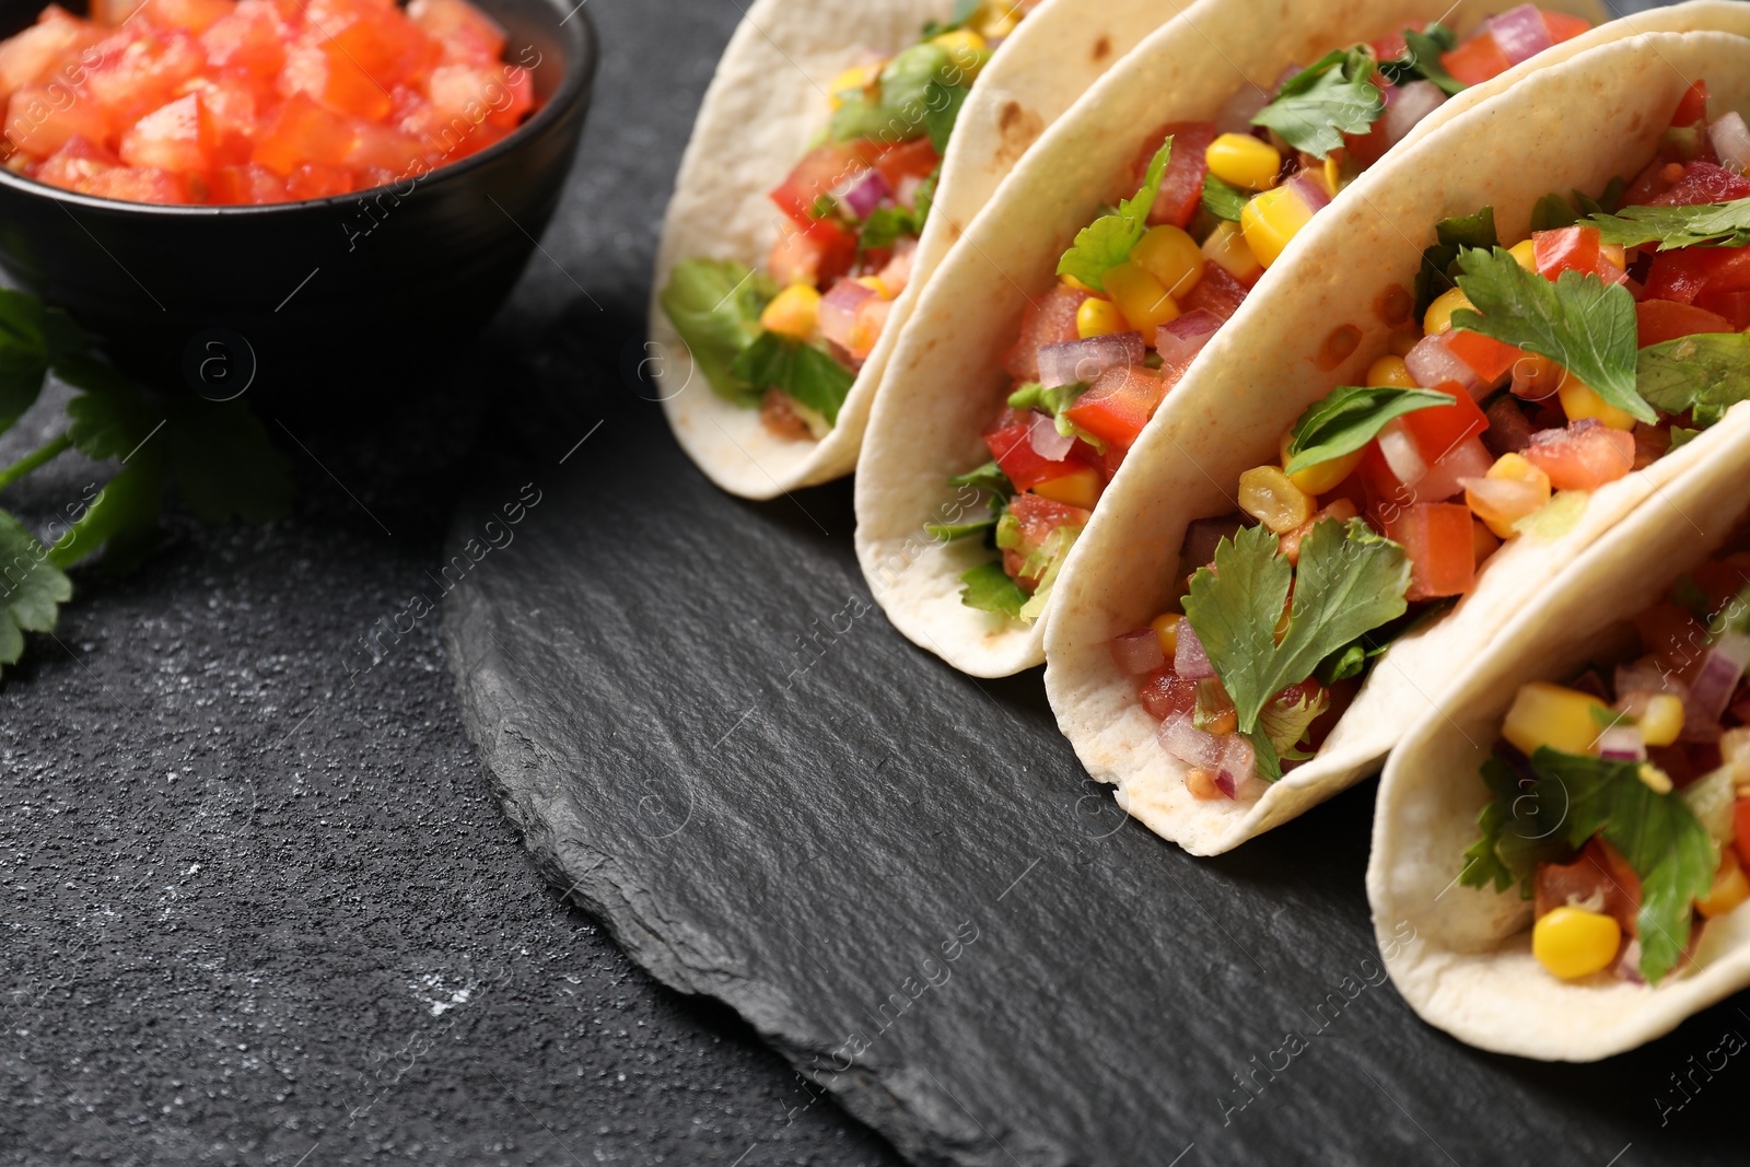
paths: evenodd
<path fill-rule="evenodd" d="M 1698 12 L 1745 26 L 1664 16 Z M 1743 49 L 1645 33 L 1536 68 L 1360 178 L 1284 257 L 1292 294 L 1211 341 L 1046 630 L 1059 724 L 1130 814 L 1213 854 L 1344 789 L 1750 423 L 1690 339 L 1750 324 L 1718 247 L 1750 233 L 1696 233 L 1750 206 Z"/>

